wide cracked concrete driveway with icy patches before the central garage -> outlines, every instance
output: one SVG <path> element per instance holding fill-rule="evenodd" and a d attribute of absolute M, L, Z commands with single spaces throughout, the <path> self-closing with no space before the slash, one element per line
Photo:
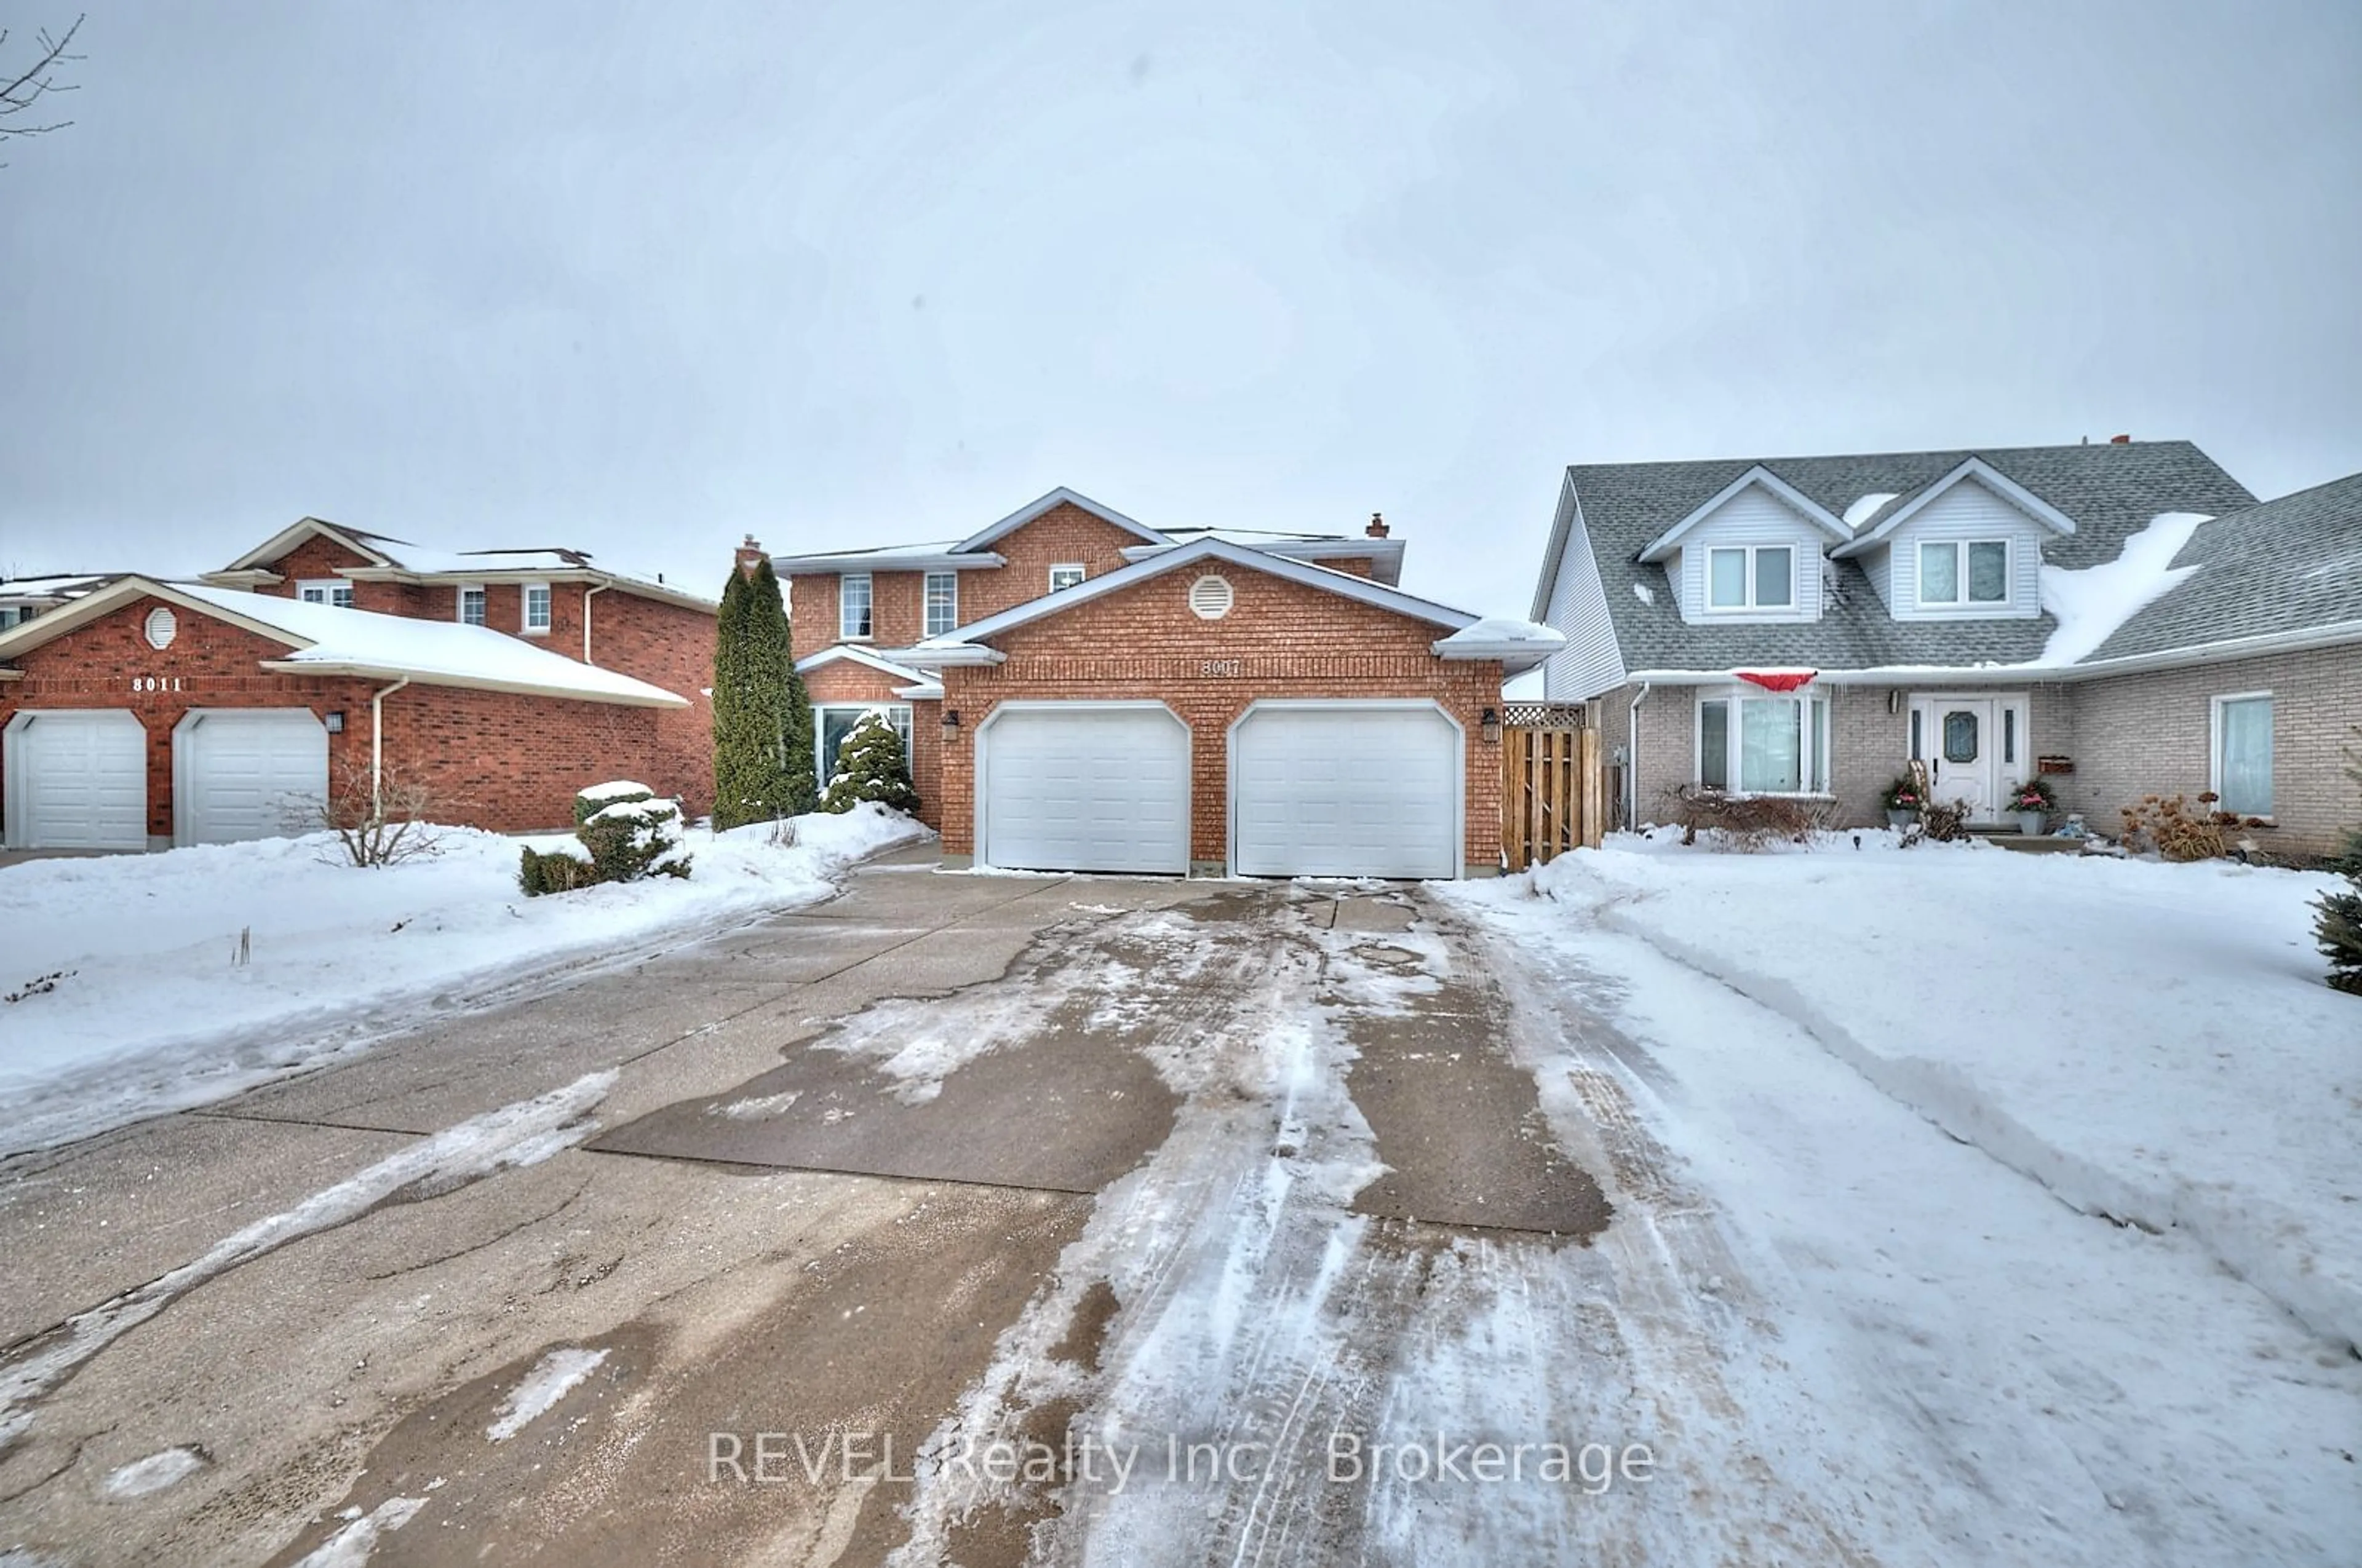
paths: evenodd
<path fill-rule="evenodd" d="M 905 855 L 17 1159 L 0 1563 L 1412 1561 L 1337 1433 L 1632 1159 L 1519 1018 L 1415 890 Z"/>

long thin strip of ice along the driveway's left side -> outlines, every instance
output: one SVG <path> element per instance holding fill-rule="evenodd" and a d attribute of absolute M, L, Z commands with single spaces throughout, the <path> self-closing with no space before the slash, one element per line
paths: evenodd
<path fill-rule="evenodd" d="M 586 1072 L 565 1089 L 446 1126 L 333 1188 L 321 1188 L 293 1209 L 257 1219 L 222 1237 L 194 1263 L 182 1263 L 139 1289 L 66 1320 L 54 1334 L 35 1339 L 33 1351 L 0 1367 L 0 1450 L 7 1450 L 33 1424 L 33 1407 L 43 1396 L 205 1280 L 253 1263 L 288 1242 L 342 1226 L 404 1188 L 449 1193 L 501 1169 L 539 1164 L 595 1131 L 590 1110 L 607 1098 L 614 1079 L 614 1070 Z"/>

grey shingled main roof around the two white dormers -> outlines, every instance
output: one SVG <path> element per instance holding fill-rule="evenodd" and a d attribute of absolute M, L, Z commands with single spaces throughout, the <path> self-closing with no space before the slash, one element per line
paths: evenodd
<path fill-rule="evenodd" d="M 2043 541 L 2043 560 L 2081 569 L 2114 560 L 2131 534 L 2159 512 L 2225 515 L 2256 498 L 2190 442 L 2100 446 L 1996 446 L 1960 451 L 1890 451 L 1838 458 L 1722 458 L 1705 463 L 1578 463 L 1568 468 L 1583 524 L 1599 557 L 1609 616 L 1627 671 L 1729 671 L 1800 666 L 1819 671 L 1894 664 L 2024 664 L 2041 656 L 2055 619 L 1897 621 L 1854 560 L 1828 562 L 1831 595 L 1819 621 L 1772 626 L 1691 626 L 1682 619 L 1665 569 L 1639 553 L 1658 534 L 1710 501 L 1757 463 L 1833 515 L 1861 496 L 1892 491 L 1857 529 L 1906 505 L 1968 458 L 1984 458 L 2074 520 L 2076 531 Z M 1549 571 L 1564 541 L 1552 541 Z M 1635 593 L 1649 590 L 1649 597 Z M 1545 588 L 1547 590 L 1547 588 Z"/>

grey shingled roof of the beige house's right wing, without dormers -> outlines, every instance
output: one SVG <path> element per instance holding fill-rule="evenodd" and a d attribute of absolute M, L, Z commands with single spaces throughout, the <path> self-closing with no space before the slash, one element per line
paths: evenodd
<path fill-rule="evenodd" d="M 2199 524 L 2197 567 L 2086 664 L 2362 621 L 2362 475 Z"/>

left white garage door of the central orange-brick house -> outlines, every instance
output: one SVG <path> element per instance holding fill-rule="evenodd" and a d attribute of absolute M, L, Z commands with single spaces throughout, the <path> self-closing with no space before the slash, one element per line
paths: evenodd
<path fill-rule="evenodd" d="M 1188 871 L 1188 727 L 1150 708 L 1001 708 L 983 734 L 985 864 Z"/>

